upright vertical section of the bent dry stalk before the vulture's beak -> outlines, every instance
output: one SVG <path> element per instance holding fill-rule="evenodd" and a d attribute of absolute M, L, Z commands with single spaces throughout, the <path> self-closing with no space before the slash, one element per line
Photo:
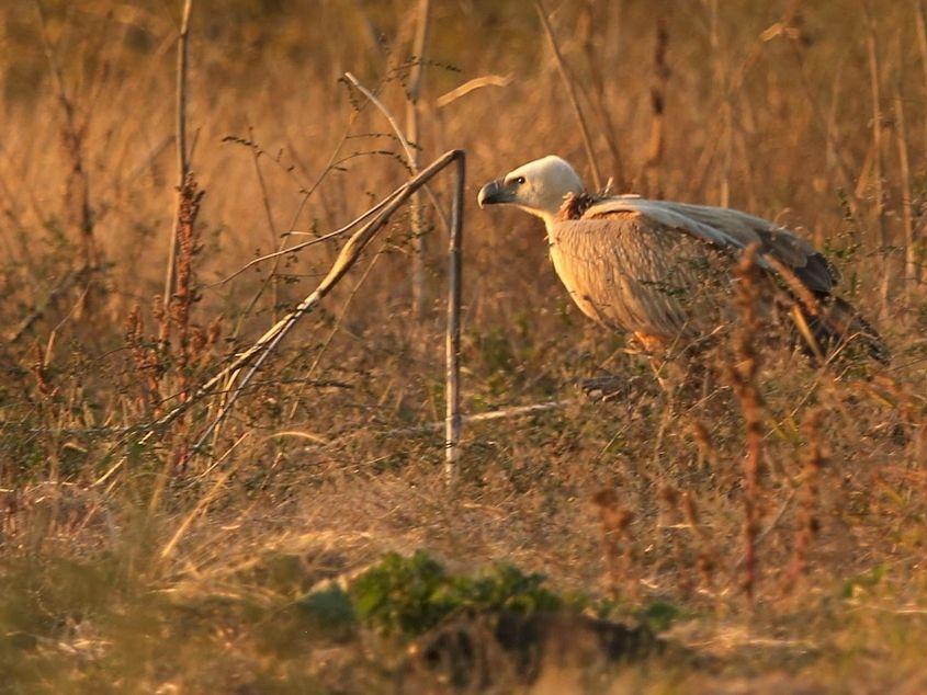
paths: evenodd
<path fill-rule="evenodd" d="M 456 158 L 454 203 L 451 207 L 451 235 L 448 244 L 448 334 L 445 340 L 446 420 L 444 423 L 444 477 L 453 485 L 457 477 L 461 443 L 461 243 L 463 241 L 463 195 L 466 158 Z"/>

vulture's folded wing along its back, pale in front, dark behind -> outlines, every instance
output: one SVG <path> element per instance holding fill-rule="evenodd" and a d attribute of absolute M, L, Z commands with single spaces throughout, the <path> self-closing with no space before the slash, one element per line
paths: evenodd
<path fill-rule="evenodd" d="M 584 219 L 609 217 L 614 213 L 638 213 L 671 229 L 682 230 L 717 247 L 743 250 L 759 243 L 758 262 L 775 271 L 764 257 L 771 255 L 790 267 L 812 292 L 829 294 L 839 275 L 827 259 L 793 231 L 739 210 L 708 205 L 648 201 L 615 196 L 589 207 Z"/>

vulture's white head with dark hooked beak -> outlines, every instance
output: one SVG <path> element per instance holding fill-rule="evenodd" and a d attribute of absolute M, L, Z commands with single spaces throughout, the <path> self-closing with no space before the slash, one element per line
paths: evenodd
<path fill-rule="evenodd" d="M 484 205 L 517 205 L 551 224 L 570 193 L 584 191 L 576 170 L 553 155 L 522 164 L 501 179 L 490 181 L 476 197 Z"/>

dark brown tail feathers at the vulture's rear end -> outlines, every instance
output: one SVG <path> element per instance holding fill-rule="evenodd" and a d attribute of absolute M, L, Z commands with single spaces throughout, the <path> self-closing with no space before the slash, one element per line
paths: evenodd
<path fill-rule="evenodd" d="M 849 301 L 839 297 L 821 297 L 814 311 L 800 308 L 800 332 L 809 342 L 813 338 L 816 344 L 811 352 L 816 356 L 843 361 L 845 357 L 869 356 L 882 364 L 889 364 L 891 355 L 885 341 L 879 332 L 860 315 Z M 805 333 L 810 332 L 811 335 Z"/>

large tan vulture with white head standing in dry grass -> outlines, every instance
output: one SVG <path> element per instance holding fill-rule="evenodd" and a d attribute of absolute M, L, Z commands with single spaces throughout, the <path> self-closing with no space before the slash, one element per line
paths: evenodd
<path fill-rule="evenodd" d="M 818 362 L 889 358 L 878 332 L 834 294 L 838 273 L 809 241 L 739 210 L 590 194 L 549 156 L 490 181 L 477 202 L 544 220 L 554 269 L 583 312 L 651 355 L 693 354 L 737 321 L 736 264 L 753 249 L 760 316 Z M 688 351 L 688 352 L 687 352 Z"/>

